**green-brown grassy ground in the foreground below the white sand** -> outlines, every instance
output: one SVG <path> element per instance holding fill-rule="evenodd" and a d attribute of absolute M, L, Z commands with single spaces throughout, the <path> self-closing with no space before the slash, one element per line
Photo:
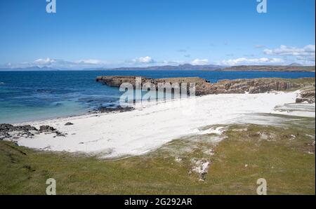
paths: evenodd
<path fill-rule="evenodd" d="M 315 194 L 315 119 L 286 121 L 223 126 L 222 135 L 185 137 L 117 160 L 0 141 L 0 194 L 45 194 L 48 178 L 57 194 L 256 194 L 258 178 L 267 180 L 268 194 Z M 210 162 L 204 181 L 190 171 L 194 158 Z"/>

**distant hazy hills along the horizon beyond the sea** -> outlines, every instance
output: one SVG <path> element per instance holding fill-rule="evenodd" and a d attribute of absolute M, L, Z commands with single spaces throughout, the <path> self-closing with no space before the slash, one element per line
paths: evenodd
<path fill-rule="evenodd" d="M 0 71 L 53 71 L 53 70 L 74 70 L 74 69 L 55 69 L 51 67 L 25 67 L 25 68 L 0 68 Z M 291 65 L 163 65 L 150 67 L 119 67 L 119 68 L 89 68 L 84 70 L 203 70 L 203 71 L 266 71 L 266 72 L 315 72 L 315 66 L 303 66 L 298 63 Z"/>

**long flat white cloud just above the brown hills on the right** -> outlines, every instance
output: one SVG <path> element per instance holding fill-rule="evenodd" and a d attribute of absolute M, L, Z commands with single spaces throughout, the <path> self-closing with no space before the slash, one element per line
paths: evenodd
<path fill-rule="evenodd" d="M 280 65 L 284 63 L 281 58 L 237 58 L 230 60 L 222 60 L 219 65 Z"/>

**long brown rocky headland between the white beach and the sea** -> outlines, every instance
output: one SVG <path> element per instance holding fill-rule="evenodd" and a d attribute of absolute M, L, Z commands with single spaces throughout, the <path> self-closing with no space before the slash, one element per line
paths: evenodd
<path fill-rule="evenodd" d="M 300 79 L 237 79 L 223 80 L 217 83 L 209 83 L 198 77 L 147 79 L 141 78 L 143 83 L 153 83 L 158 88 L 158 83 L 195 83 L 196 95 L 209 95 L 220 93 L 266 93 L 272 90 L 291 90 L 305 86 Z M 135 88 L 136 76 L 99 76 L 96 81 L 107 86 L 119 87 L 121 83 L 131 83 Z M 315 82 L 315 79 L 314 79 Z M 187 93 L 189 93 L 187 85 Z"/>

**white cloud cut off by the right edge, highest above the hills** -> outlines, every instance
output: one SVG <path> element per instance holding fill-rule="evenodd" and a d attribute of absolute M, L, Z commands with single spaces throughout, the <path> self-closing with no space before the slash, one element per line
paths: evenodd
<path fill-rule="evenodd" d="M 314 56 L 315 57 L 315 45 L 307 45 L 303 48 L 296 48 L 290 46 L 281 45 L 275 49 L 265 49 L 263 53 L 266 55 L 291 55 L 291 56 Z"/>

